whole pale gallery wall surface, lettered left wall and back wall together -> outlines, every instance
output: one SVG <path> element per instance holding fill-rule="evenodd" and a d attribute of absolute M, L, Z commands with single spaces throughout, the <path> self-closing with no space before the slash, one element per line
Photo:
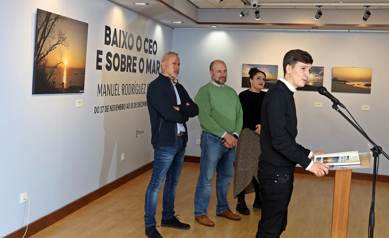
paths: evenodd
<path fill-rule="evenodd" d="M 83 94 L 32 95 L 37 8 L 88 23 Z M 181 60 L 178 79 L 192 98 L 209 82 L 209 64 L 215 59 L 226 62 L 227 84 L 238 93 L 244 90 L 240 87 L 243 63 L 277 64 L 282 76 L 283 56 L 295 48 L 310 52 L 313 65 L 324 66 L 324 86 L 329 90 L 332 67 L 372 67 L 371 94 L 333 95 L 377 144 L 389 150 L 387 32 L 173 30 L 105 0 L 6 2 L 0 19 L 0 237 L 26 225 L 28 205 L 20 204 L 21 193 L 28 192 L 33 222 L 153 160 L 149 115 L 142 103 L 145 92 L 123 95 L 119 90 L 120 95 L 102 96 L 98 87 L 150 83 L 156 72 L 140 72 L 140 59 L 157 62 L 172 49 Z M 105 45 L 106 26 L 132 33 L 135 39 L 140 36 L 140 50 Z M 155 52 L 144 51 L 145 39 L 157 42 Z M 108 52 L 137 57 L 137 72 L 107 70 Z M 294 97 L 298 142 L 312 150 L 368 152 L 367 141 L 331 108 L 327 98 L 313 91 L 298 91 Z M 79 99 L 82 107 L 76 107 Z M 322 102 L 323 107 L 314 108 L 314 102 Z M 123 110 L 105 110 L 122 104 Z M 361 111 L 362 104 L 370 105 L 370 111 Z M 102 107 L 104 113 L 97 113 Z M 200 156 L 195 142 L 201 133 L 197 117 L 189 120 L 188 130 L 186 154 Z M 388 171 L 389 163 L 381 156 L 379 173 L 389 175 Z"/>

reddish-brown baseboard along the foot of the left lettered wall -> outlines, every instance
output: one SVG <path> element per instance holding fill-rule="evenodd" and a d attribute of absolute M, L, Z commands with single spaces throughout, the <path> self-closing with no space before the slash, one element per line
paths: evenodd
<path fill-rule="evenodd" d="M 46 227 L 49 227 L 50 225 L 60 221 L 62 218 L 70 215 L 71 213 L 79 210 L 80 208 L 90 204 L 94 200 L 104 196 L 105 194 L 119 188 L 120 186 L 124 185 L 126 182 L 138 177 L 139 175 L 153 169 L 154 162 L 150 162 L 145 164 L 144 166 L 140 167 L 139 169 L 134 170 L 131 173 L 128 173 L 124 175 L 123 177 L 120 177 L 116 179 L 115 181 L 110 182 L 109 184 L 89 193 L 85 196 L 75 200 L 74 202 L 65 205 L 64 207 L 51 212 L 50 214 L 39 218 L 38 220 L 28 224 L 28 230 L 25 237 L 29 237 L 35 233 L 38 233 L 39 231 L 45 229 Z M 21 229 L 18 229 L 11 234 L 8 234 L 4 236 L 3 238 L 20 238 L 24 235 L 26 232 L 26 226 L 22 227 Z"/>

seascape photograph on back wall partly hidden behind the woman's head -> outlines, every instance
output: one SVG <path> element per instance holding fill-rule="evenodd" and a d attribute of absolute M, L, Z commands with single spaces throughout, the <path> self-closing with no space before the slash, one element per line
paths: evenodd
<path fill-rule="evenodd" d="M 265 72 L 266 80 L 264 88 L 270 88 L 277 82 L 278 65 L 267 64 L 243 64 L 242 65 L 242 87 L 249 88 L 249 70 L 250 68 L 257 67 L 259 70 Z"/>

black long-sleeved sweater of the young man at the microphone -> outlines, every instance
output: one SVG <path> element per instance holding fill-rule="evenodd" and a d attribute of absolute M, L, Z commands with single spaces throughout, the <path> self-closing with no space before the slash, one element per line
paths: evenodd
<path fill-rule="evenodd" d="M 258 169 L 291 174 L 296 164 L 307 168 L 310 150 L 295 141 L 297 116 L 293 92 L 280 80 L 266 93 L 261 113 L 261 149 Z"/>

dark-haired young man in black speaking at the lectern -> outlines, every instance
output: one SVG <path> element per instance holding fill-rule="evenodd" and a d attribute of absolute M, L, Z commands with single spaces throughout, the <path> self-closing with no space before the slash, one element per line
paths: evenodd
<path fill-rule="evenodd" d="M 284 78 L 266 93 L 261 113 L 261 149 L 258 181 L 262 193 L 262 213 L 256 238 L 280 237 L 285 231 L 288 205 L 293 191 L 296 164 L 316 176 L 328 174 L 328 166 L 313 162 L 312 152 L 295 141 L 297 115 L 293 94 L 309 77 L 313 59 L 306 51 L 290 50 L 284 56 Z M 304 204 L 302 204 L 304 206 Z"/>

